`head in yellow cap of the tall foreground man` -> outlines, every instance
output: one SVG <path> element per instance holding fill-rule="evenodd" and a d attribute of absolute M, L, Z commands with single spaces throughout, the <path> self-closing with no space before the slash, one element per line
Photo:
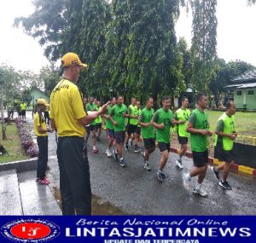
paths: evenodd
<path fill-rule="evenodd" d="M 68 52 L 66 55 L 63 55 L 61 58 L 61 64 L 64 68 L 65 76 L 75 83 L 79 80 L 81 68 L 87 67 L 86 64 L 80 61 L 79 55 L 73 52 Z"/>

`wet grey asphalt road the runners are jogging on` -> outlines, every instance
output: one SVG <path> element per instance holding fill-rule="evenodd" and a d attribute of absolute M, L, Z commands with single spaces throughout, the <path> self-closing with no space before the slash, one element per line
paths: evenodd
<path fill-rule="evenodd" d="M 28 119 L 31 123 L 32 120 Z M 91 139 L 89 140 L 91 143 Z M 160 159 L 157 149 L 150 158 L 152 171 L 143 169 L 140 154 L 125 152 L 127 167 L 122 168 L 113 159 L 108 159 L 104 151 L 107 146 L 106 133 L 102 132 L 102 142 L 97 144 L 100 153 L 92 153 L 89 145 L 90 179 L 92 193 L 118 206 L 125 213 L 140 215 L 256 215 L 256 177 L 231 173 L 229 182 L 233 187 L 225 191 L 218 186 L 212 171 L 207 171 L 204 187 L 207 198 L 192 194 L 190 185 L 184 184 L 182 172 L 192 168 L 192 159 L 184 158 L 184 169 L 180 171 L 174 164 L 177 154 L 170 153 L 166 165 L 166 182 L 160 184 L 156 171 Z M 59 188 L 59 171 L 55 156 L 55 135 L 49 136 L 49 179 L 51 187 Z"/>

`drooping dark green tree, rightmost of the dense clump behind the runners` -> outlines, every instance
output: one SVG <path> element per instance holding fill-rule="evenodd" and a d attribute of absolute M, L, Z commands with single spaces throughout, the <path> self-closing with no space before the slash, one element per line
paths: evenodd
<path fill-rule="evenodd" d="M 179 1 L 129 2 L 131 29 L 125 57 L 128 95 L 171 94 L 179 81 L 182 58 L 177 50 L 175 21 Z"/>

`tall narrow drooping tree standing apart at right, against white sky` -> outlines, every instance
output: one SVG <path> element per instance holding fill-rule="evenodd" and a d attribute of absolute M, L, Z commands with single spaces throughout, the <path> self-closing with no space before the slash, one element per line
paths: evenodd
<path fill-rule="evenodd" d="M 193 0 L 192 84 L 195 90 L 209 91 L 217 57 L 217 0 Z"/>

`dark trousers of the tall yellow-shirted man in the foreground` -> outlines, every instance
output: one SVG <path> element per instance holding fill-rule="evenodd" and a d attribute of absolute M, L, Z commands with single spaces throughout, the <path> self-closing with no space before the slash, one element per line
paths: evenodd
<path fill-rule="evenodd" d="M 58 138 L 57 156 L 63 215 L 90 215 L 90 168 L 84 138 Z"/>

